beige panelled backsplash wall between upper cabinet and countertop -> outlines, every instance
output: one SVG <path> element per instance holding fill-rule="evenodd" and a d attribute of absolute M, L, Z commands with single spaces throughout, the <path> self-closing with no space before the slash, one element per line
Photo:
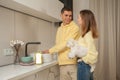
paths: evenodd
<path fill-rule="evenodd" d="M 13 63 L 13 56 L 5 56 L 3 50 L 11 48 L 11 40 L 39 41 L 41 45 L 28 45 L 28 53 L 48 49 L 54 45 L 57 27 L 54 23 L 0 7 L 0 65 Z M 25 46 L 20 49 L 24 55 Z"/>

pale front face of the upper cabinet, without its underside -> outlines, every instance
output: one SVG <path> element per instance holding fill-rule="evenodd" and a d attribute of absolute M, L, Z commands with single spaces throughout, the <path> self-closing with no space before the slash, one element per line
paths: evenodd
<path fill-rule="evenodd" d="M 60 19 L 60 11 L 63 4 L 59 0 L 14 0 L 37 11 Z"/>

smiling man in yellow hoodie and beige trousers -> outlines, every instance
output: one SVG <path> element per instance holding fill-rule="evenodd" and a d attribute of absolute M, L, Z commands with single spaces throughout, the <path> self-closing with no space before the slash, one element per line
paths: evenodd
<path fill-rule="evenodd" d="M 58 52 L 58 63 L 60 66 L 60 80 L 77 80 L 76 58 L 69 59 L 68 53 L 70 49 L 66 46 L 69 39 L 79 38 L 79 27 L 72 21 L 72 10 L 62 8 L 61 10 L 62 24 L 58 28 L 56 34 L 56 44 L 43 53 Z"/>

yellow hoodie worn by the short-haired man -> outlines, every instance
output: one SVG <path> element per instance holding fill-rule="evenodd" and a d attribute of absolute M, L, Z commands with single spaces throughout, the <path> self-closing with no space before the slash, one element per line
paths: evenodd
<path fill-rule="evenodd" d="M 58 52 L 59 65 L 76 64 L 76 58 L 68 58 L 70 49 L 67 48 L 66 42 L 71 38 L 77 40 L 79 38 L 79 34 L 79 27 L 73 21 L 65 26 L 61 24 L 61 26 L 58 28 L 56 35 L 56 44 L 51 49 L 49 49 L 49 52 Z"/>

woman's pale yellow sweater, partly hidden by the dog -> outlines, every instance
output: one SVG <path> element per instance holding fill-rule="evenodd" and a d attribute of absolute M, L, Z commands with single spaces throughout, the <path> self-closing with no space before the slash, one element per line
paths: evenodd
<path fill-rule="evenodd" d="M 87 64 L 94 64 L 97 62 L 98 52 L 95 46 L 95 39 L 92 37 L 91 31 L 86 33 L 84 37 L 78 39 L 78 43 L 81 46 L 88 48 L 87 55 L 82 57 L 82 60 Z"/>

